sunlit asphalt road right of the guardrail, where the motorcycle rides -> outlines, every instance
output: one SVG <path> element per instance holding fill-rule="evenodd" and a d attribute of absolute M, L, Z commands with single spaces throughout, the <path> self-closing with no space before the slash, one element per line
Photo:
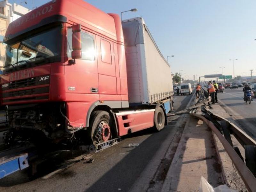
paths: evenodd
<path fill-rule="evenodd" d="M 237 124 L 254 140 L 256 140 L 256 98 L 251 104 L 244 102 L 243 88 L 225 89 L 223 93 L 218 92 L 218 100 Z"/>

